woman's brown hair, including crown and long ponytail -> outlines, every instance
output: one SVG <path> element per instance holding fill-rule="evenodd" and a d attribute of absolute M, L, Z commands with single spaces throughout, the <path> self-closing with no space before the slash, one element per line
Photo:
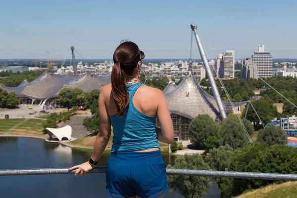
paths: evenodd
<path fill-rule="evenodd" d="M 113 53 L 114 65 L 111 72 L 111 86 L 118 111 L 117 116 L 122 116 L 126 112 L 129 104 L 129 94 L 126 87 L 127 77 L 133 74 L 141 55 L 138 46 L 130 41 L 119 45 Z"/>

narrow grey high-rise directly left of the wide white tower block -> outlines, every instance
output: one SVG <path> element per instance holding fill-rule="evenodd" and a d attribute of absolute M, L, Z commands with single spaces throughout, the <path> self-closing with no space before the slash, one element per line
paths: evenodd
<path fill-rule="evenodd" d="M 250 57 L 242 57 L 241 79 L 258 79 L 257 64 L 252 62 Z"/>

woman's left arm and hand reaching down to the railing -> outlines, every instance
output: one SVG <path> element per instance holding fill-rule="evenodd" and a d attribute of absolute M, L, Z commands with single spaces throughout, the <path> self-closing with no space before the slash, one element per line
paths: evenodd
<path fill-rule="evenodd" d="M 105 97 L 107 95 L 106 87 L 102 87 L 99 94 L 99 101 L 98 101 L 98 108 L 99 108 L 99 132 L 96 137 L 94 151 L 91 155 L 91 157 L 95 161 L 99 161 L 99 158 L 101 157 L 104 149 L 107 146 L 107 143 L 110 138 L 111 133 L 111 122 L 110 118 L 108 116 L 107 108 L 105 105 Z M 110 94 L 110 93 L 109 93 Z M 105 95 L 105 96 L 104 96 Z M 81 165 L 73 166 L 69 169 L 69 171 L 77 169 L 74 175 L 74 179 L 76 179 L 76 176 L 78 174 L 81 174 L 82 176 L 86 176 L 87 173 L 92 170 L 95 166 L 92 166 L 89 162 L 85 162 Z"/>

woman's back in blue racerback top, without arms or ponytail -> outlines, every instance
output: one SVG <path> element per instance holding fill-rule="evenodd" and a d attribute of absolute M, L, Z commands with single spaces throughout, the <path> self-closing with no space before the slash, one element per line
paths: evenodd
<path fill-rule="evenodd" d="M 114 135 L 111 152 L 160 148 L 155 128 L 158 106 L 155 99 L 156 90 L 140 82 L 126 86 L 129 93 L 129 105 L 125 114 L 117 116 L 115 113 L 109 116 Z M 112 112 L 116 105 L 112 101 L 112 94 L 109 96 L 111 99 L 107 99 L 110 101 L 108 106 Z"/>

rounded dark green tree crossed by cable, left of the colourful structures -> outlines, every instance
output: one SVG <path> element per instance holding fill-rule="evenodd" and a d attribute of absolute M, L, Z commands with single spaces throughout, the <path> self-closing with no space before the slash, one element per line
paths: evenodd
<path fill-rule="evenodd" d="M 255 100 L 251 102 L 255 107 L 259 117 L 261 118 L 263 123 L 270 122 L 274 117 L 278 117 L 278 112 L 276 106 L 272 103 L 268 103 L 264 100 Z M 247 107 L 247 105 L 246 105 Z M 243 111 L 243 115 L 246 114 L 247 108 Z M 247 119 L 254 124 L 255 129 L 259 129 L 262 125 L 260 124 L 259 118 L 254 112 L 254 110 L 249 107 L 247 111 Z"/>

